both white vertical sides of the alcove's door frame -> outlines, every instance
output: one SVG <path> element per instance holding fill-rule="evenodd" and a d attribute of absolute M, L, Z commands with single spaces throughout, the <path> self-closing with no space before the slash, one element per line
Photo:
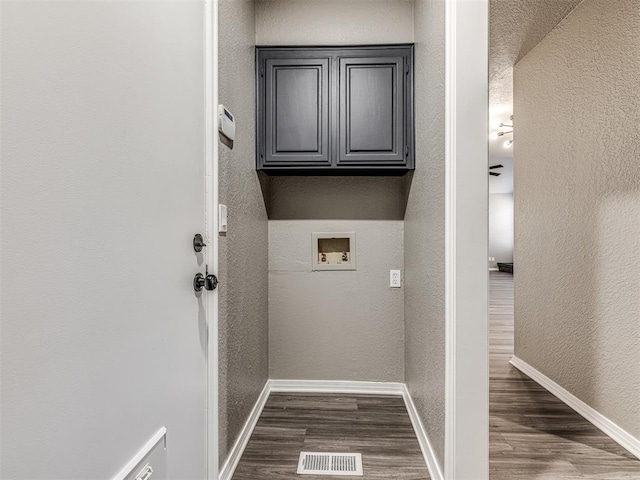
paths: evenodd
<path fill-rule="evenodd" d="M 205 235 L 207 261 L 217 275 L 218 0 L 204 3 Z M 489 477 L 488 10 L 488 0 L 445 4 L 447 480 Z M 218 480 L 218 291 L 206 302 L 206 472 L 207 480 Z"/>

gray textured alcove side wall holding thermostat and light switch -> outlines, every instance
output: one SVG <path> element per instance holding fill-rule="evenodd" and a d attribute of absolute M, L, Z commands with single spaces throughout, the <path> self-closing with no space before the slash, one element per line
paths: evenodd
<path fill-rule="evenodd" d="M 220 460 L 268 377 L 267 213 L 255 171 L 254 3 L 219 4 L 220 102 L 236 117 L 233 150 L 220 144 Z"/>

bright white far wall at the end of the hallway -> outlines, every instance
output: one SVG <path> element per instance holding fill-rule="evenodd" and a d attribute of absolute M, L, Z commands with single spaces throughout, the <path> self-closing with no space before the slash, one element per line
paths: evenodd
<path fill-rule="evenodd" d="M 513 262 L 513 194 L 489 195 L 489 256 L 495 257 L 490 267 L 498 262 Z"/>

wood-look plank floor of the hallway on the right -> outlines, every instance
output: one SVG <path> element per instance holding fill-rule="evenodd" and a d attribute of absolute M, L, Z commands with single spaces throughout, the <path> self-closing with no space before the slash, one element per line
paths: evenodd
<path fill-rule="evenodd" d="M 491 480 L 640 479 L 640 460 L 509 364 L 513 275 L 491 272 Z"/>

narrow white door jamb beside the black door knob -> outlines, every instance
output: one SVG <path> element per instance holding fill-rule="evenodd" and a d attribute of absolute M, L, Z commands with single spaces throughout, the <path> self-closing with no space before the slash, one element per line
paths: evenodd
<path fill-rule="evenodd" d="M 204 1 L 205 238 L 206 262 L 218 275 L 218 0 Z M 205 298 L 207 312 L 206 478 L 218 480 L 218 289 Z"/>

